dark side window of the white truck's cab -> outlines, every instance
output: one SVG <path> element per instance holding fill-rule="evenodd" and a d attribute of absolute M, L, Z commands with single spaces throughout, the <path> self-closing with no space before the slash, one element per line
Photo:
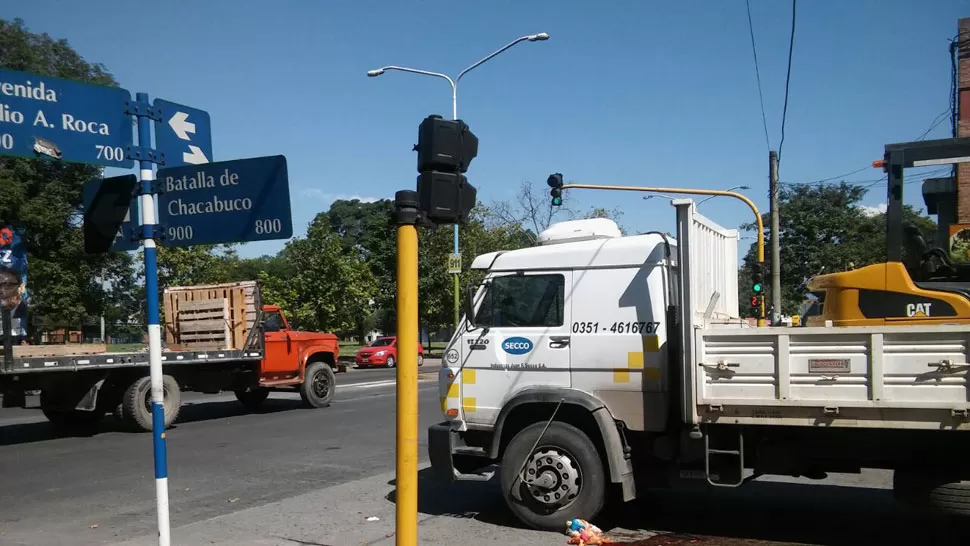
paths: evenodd
<path fill-rule="evenodd" d="M 491 280 L 475 314 L 477 326 L 536 328 L 562 326 L 562 275 L 508 275 Z"/>

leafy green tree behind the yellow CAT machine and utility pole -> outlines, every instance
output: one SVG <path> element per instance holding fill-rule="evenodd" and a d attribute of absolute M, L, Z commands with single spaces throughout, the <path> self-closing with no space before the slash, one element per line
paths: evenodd
<path fill-rule="evenodd" d="M 867 214 L 859 206 L 866 190 L 847 184 L 796 186 L 783 189 L 779 201 L 781 237 L 782 313 L 797 313 L 805 299 L 805 283 L 821 273 L 834 273 L 886 261 L 886 215 Z M 910 206 L 903 207 L 904 222 L 911 222 L 933 240 L 936 224 Z M 762 222 L 770 226 L 770 216 Z M 753 231 L 754 225 L 741 226 Z M 764 281 L 770 288 L 770 232 L 765 229 Z M 752 244 L 739 272 L 741 309 L 754 316 L 749 305 L 751 271 L 757 263 Z M 765 300 L 770 304 L 771 296 Z"/>

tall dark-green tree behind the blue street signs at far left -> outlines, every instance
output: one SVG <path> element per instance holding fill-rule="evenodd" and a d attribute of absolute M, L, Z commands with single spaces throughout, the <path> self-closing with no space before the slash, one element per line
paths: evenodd
<path fill-rule="evenodd" d="M 0 66 L 117 85 L 104 66 L 85 61 L 65 40 L 31 33 L 20 19 L 0 20 Z M 24 228 L 30 313 L 45 324 L 78 325 L 86 315 L 115 308 L 118 291 L 130 287 L 130 255 L 83 250 L 81 188 L 100 176 L 91 165 L 0 158 L 0 221 Z"/>

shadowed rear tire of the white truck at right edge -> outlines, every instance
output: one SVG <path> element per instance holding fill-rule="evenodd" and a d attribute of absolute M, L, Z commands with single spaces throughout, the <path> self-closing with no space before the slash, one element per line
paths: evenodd
<path fill-rule="evenodd" d="M 945 469 L 896 470 L 893 472 L 893 494 L 917 507 L 970 516 L 970 480 L 961 480 Z"/>

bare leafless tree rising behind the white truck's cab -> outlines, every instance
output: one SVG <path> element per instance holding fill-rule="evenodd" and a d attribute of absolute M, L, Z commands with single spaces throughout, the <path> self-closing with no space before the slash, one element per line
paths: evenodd
<path fill-rule="evenodd" d="M 511 200 L 493 201 L 482 208 L 482 221 L 489 227 L 505 227 L 520 230 L 530 244 L 538 244 L 538 235 L 554 221 L 578 218 L 609 218 L 617 221 L 622 216 L 619 209 L 592 207 L 579 211 L 571 206 L 568 191 L 563 193 L 563 203 L 552 206 L 548 192 L 536 189 L 531 182 L 523 182 Z M 621 228 L 622 230 L 622 228 Z"/>

